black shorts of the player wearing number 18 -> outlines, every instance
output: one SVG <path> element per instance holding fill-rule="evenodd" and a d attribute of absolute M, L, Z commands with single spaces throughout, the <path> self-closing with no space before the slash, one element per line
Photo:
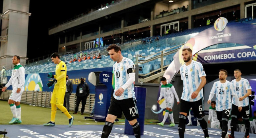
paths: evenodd
<path fill-rule="evenodd" d="M 232 115 L 241 116 L 245 119 L 249 118 L 249 115 L 250 115 L 249 105 L 242 107 L 242 111 L 239 112 L 238 111 L 238 106 L 236 106 L 235 104 L 232 104 L 231 117 L 232 117 Z"/>

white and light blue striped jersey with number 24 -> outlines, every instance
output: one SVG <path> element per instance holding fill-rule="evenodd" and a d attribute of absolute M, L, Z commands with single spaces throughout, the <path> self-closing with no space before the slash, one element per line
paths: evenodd
<path fill-rule="evenodd" d="M 220 81 L 214 82 L 211 88 L 211 94 L 216 94 L 216 111 L 223 111 L 224 109 L 231 109 L 232 95 L 236 95 L 234 85 L 226 81 L 221 83 Z"/>

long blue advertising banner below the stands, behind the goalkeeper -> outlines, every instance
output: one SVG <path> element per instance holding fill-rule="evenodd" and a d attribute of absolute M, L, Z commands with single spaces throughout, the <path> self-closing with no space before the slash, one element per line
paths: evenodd
<path fill-rule="evenodd" d="M 88 80 L 88 75 L 90 72 L 102 72 L 108 71 L 112 72 L 112 67 L 105 67 L 105 68 L 94 68 L 94 69 L 82 69 L 82 70 L 72 70 L 67 71 L 67 75 L 69 77 L 69 81 L 73 84 L 73 92 L 75 93 L 77 85 L 80 83 L 80 78 L 83 77 L 85 82 L 88 84 L 90 88 L 90 94 L 95 94 L 95 86 L 91 84 Z M 47 78 L 48 73 L 31 73 L 25 74 L 25 85 L 24 91 L 53 91 L 54 87 L 51 89 L 46 86 L 48 81 L 52 81 L 53 79 Z M 55 75 L 55 72 L 53 72 Z M 7 80 L 10 79 L 11 76 L 7 76 Z M 112 83 L 112 76 L 111 76 L 111 83 Z M 12 89 L 10 86 L 9 90 Z"/>

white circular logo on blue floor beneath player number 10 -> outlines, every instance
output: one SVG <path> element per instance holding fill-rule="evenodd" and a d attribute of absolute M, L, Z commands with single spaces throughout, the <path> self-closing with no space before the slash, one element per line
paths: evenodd
<path fill-rule="evenodd" d="M 101 138 L 102 131 L 68 131 L 59 134 L 66 138 Z M 110 133 L 109 138 L 129 138 L 124 134 Z"/>

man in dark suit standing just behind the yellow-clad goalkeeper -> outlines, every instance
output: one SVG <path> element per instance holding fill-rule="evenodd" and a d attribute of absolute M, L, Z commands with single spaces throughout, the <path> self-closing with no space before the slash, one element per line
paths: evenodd
<path fill-rule="evenodd" d="M 73 92 L 73 84 L 72 82 L 68 81 L 68 75 L 66 75 L 66 93 L 64 98 L 63 106 L 67 108 L 67 111 L 69 112 L 69 96 Z"/>

